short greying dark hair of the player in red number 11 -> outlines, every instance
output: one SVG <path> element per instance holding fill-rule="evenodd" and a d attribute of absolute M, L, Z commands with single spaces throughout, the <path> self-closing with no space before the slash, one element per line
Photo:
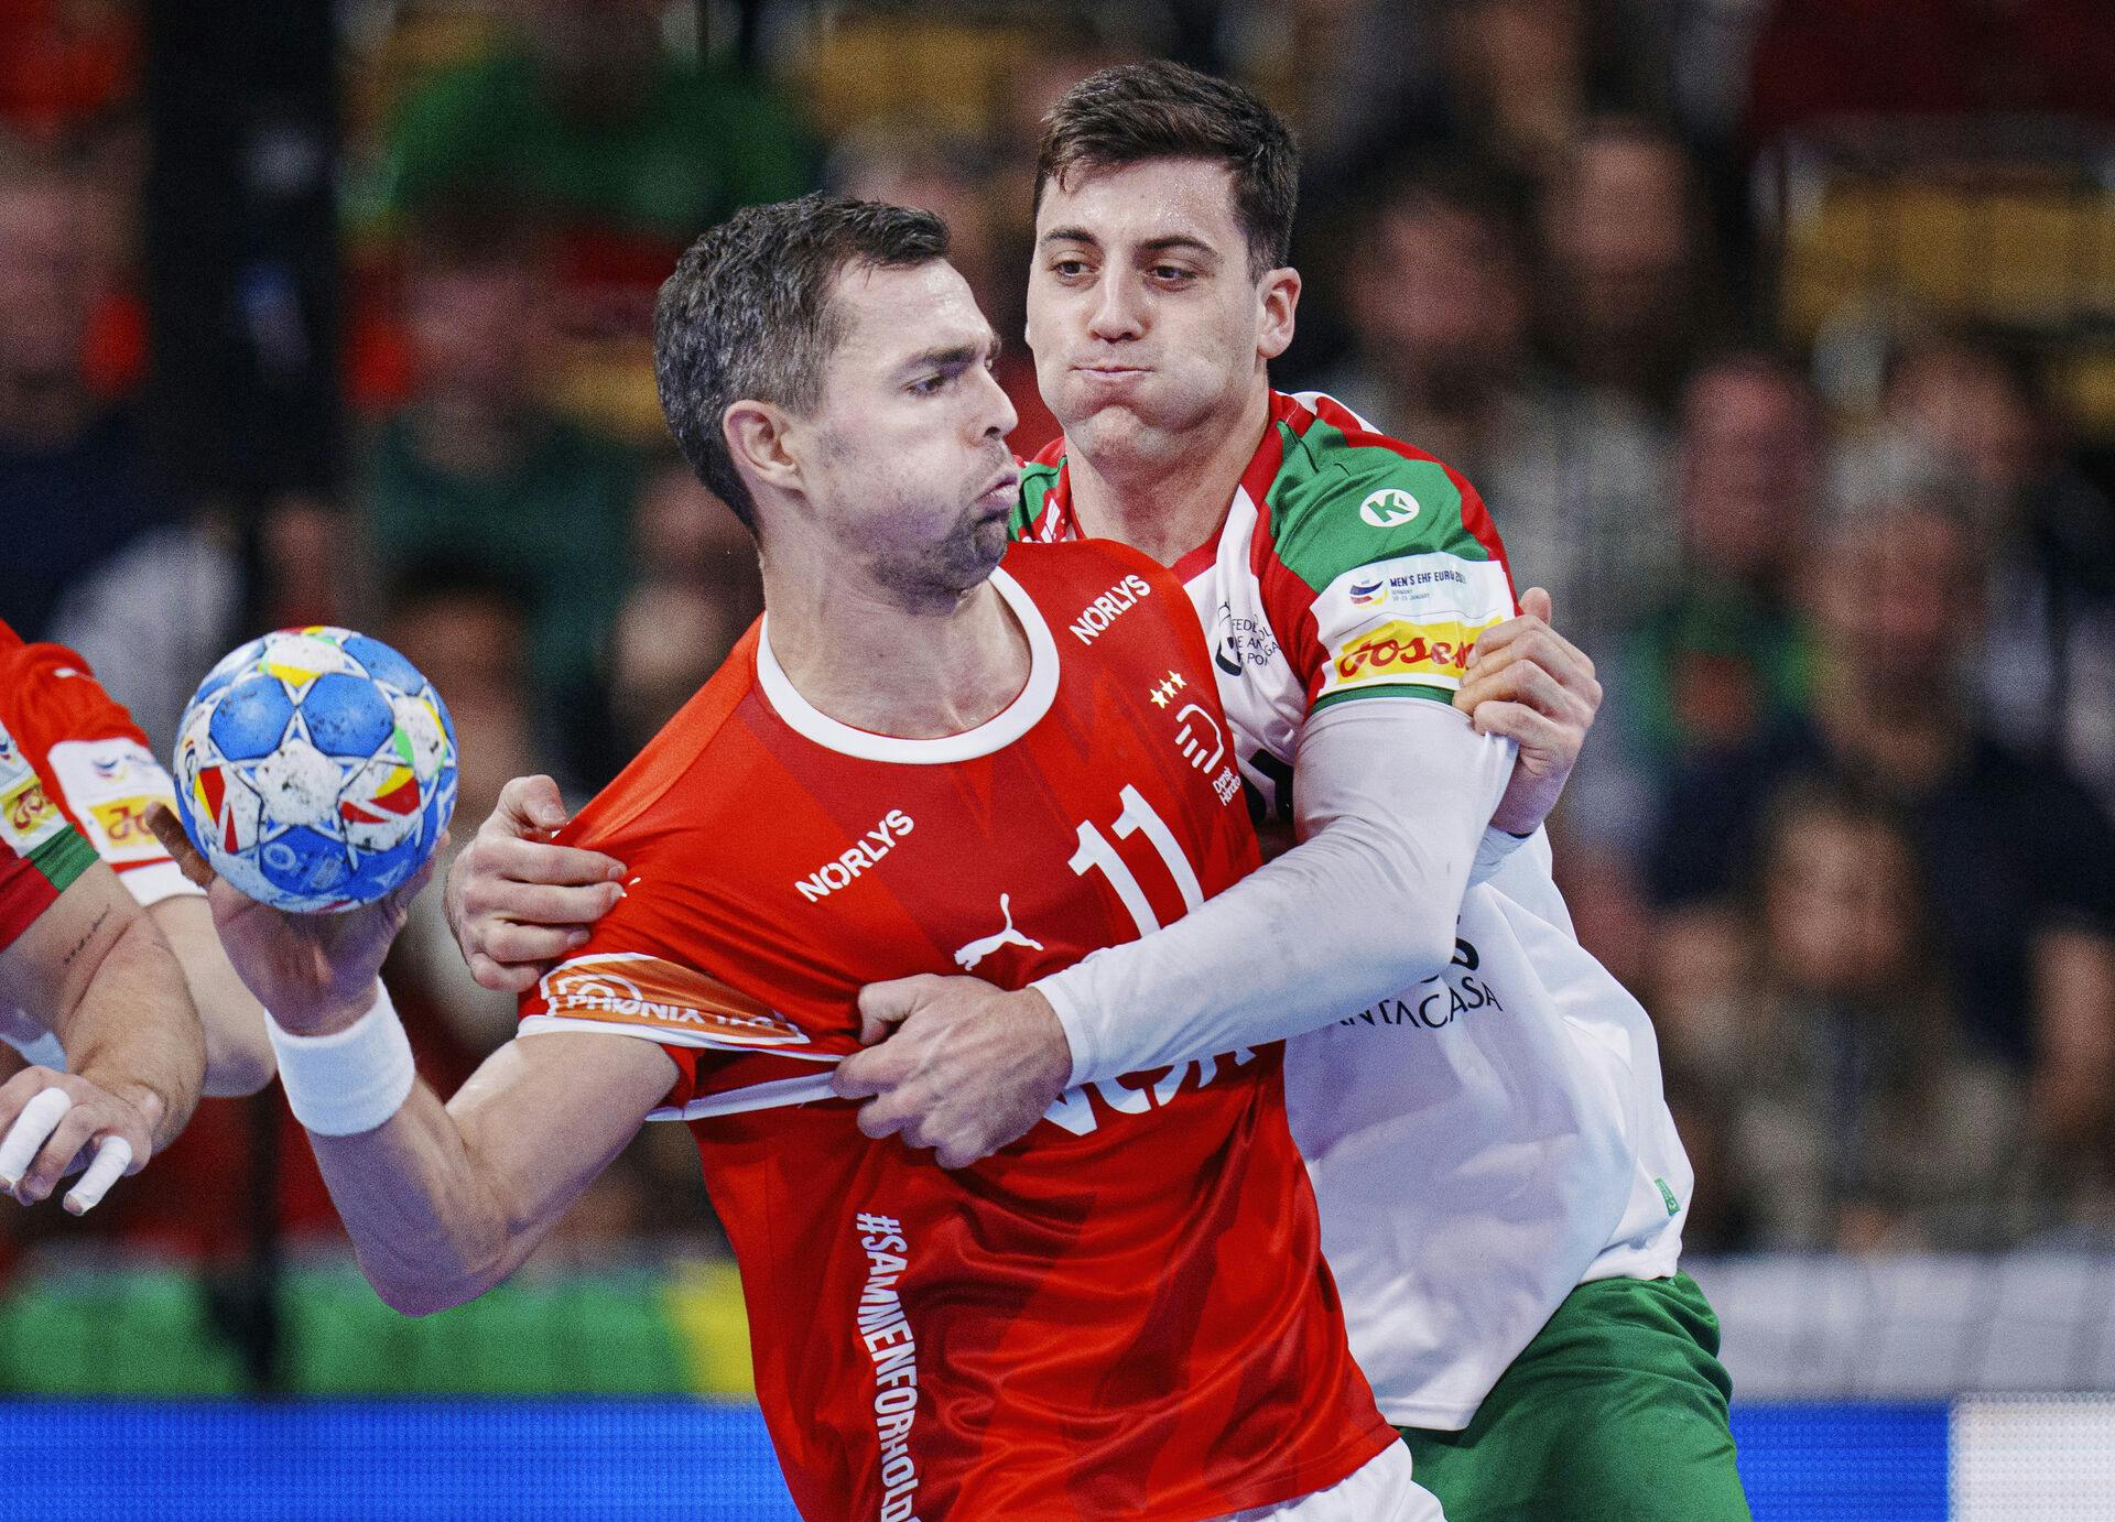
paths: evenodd
<path fill-rule="evenodd" d="M 831 290 L 846 264 L 909 268 L 948 258 L 931 211 L 806 194 L 747 207 L 677 260 L 654 302 L 654 383 L 683 459 L 755 531 L 721 419 L 736 402 L 808 412 L 844 336 Z"/>

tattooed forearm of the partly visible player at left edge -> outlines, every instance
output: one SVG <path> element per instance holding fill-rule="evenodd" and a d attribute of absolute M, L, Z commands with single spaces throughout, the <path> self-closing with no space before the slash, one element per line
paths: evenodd
<path fill-rule="evenodd" d="M 53 1036 L 70 1072 L 140 1106 L 157 1150 L 190 1120 L 205 1034 L 176 953 L 146 913 L 123 922 L 80 1000 L 55 1013 Z"/>

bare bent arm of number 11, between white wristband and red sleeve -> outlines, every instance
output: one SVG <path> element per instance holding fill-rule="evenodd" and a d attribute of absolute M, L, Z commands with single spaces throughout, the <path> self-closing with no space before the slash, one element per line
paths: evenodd
<path fill-rule="evenodd" d="M 446 1106 L 421 1080 L 381 1127 L 309 1142 L 368 1283 L 429 1315 L 520 1268 L 675 1078 L 654 1042 L 525 1036 Z"/>

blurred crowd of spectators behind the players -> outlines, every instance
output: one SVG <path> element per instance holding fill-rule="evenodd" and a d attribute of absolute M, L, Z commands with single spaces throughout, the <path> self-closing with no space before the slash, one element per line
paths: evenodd
<path fill-rule="evenodd" d="M 759 607 L 654 400 L 677 252 L 931 207 L 1011 338 L 1041 114 L 1180 57 L 1303 140 L 1275 383 L 1461 469 L 1599 666 L 1557 862 L 1690 1245 L 2115 1245 L 2102 0 L 228 0 L 254 57 L 209 8 L 0 0 L 0 617 L 163 753 L 237 638 L 338 621 L 453 706 L 459 839 L 592 795 Z M 436 894 L 391 981 L 442 1091 L 512 1027 Z M 0 1264 L 334 1230 L 277 1097 L 216 1101 Z M 550 1254 L 711 1241 L 649 1127 Z"/>

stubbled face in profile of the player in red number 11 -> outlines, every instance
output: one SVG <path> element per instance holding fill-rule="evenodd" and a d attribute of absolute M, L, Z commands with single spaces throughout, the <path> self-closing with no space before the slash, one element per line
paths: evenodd
<path fill-rule="evenodd" d="M 808 497 L 873 579 L 914 598 L 979 586 L 1007 550 L 1019 471 L 998 338 L 952 264 L 854 266 L 831 296 L 842 338 L 808 419 Z"/>

